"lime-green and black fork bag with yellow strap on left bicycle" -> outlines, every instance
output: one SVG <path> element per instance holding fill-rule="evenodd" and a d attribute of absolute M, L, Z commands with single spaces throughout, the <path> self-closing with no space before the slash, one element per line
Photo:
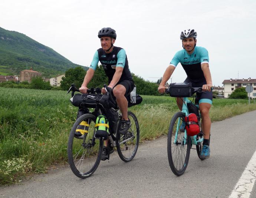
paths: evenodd
<path fill-rule="evenodd" d="M 104 140 L 108 139 L 109 135 L 109 125 L 108 120 L 105 116 L 98 116 L 95 123 L 95 138 L 103 138 Z"/>

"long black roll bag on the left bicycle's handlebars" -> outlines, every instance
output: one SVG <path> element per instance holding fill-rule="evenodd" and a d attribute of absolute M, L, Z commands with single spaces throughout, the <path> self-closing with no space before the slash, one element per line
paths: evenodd
<path fill-rule="evenodd" d="M 85 108 L 96 108 L 96 105 L 104 109 L 110 109 L 115 107 L 115 104 L 111 102 L 108 95 L 95 94 L 95 93 L 77 93 L 70 99 L 72 105 Z"/>

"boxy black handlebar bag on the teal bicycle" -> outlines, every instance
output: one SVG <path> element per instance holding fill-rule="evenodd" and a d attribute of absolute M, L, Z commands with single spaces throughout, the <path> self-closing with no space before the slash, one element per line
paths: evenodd
<path fill-rule="evenodd" d="M 171 83 L 170 84 L 170 96 L 171 97 L 190 97 L 192 96 L 191 88 L 192 84 L 188 82 Z"/>

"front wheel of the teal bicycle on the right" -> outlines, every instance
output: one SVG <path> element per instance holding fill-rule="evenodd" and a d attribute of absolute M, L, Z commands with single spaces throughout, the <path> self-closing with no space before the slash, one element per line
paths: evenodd
<path fill-rule="evenodd" d="M 185 132 L 180 131 L 181 123 L 184 122 L 185 114 L 175 113 L 170 122 L 167 138 L 168 160 L 173 173 L 177 176 L 182 175 L 188 165 L 191 138 L 185 137 Z"/>

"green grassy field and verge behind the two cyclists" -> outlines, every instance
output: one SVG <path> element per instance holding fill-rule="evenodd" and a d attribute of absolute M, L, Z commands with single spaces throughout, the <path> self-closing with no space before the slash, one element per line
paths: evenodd
<path fill-rule="evenodd" d="M 140 141 L 167 134 L 178 111 L 174 98 L 142 96 L 129 108 L 140 123 Z M 77 108 L 65 91 L 0 88 L 0 184 L 17 182 L 23 175 L 45 172 L 53 163 L 67 161 L 66 147 Z M 211 120 L 255 110 L 247 100 L 214 99 Z"/>

